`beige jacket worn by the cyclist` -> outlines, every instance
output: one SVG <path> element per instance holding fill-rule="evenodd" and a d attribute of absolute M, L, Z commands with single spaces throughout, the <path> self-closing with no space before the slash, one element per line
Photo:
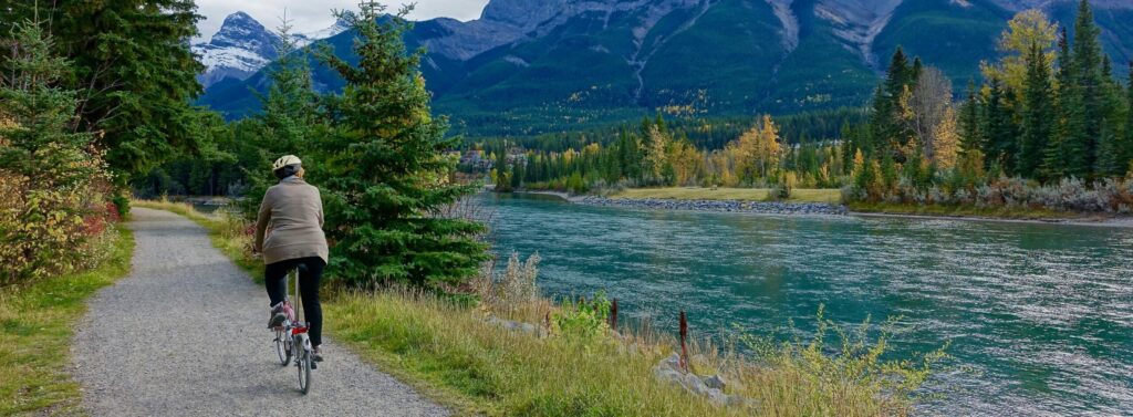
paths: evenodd
<path fill-rule="evenodd" d="M 313 256 L 326 262 L 318 188 L 298 177 L 288 177 L 269 188 L 259 204 L 255 245 L 263 252 L 265 264 Z"/>

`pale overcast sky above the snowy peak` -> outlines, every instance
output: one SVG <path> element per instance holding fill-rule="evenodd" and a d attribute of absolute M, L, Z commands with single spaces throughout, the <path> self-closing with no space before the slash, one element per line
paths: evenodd
<path fill-rule="evenodd" d="M 404 1 L 410 2 L 410 1 Z M 417 8 L 410 18 L 415 20 L 434 17 L 451 17 L 459 20 L 471 20 L 480 17 L 487 0 L 417 0 Z M 390 8 L 402 3 L 400 0 L 389 2 Z M 314 32 L 331 26 L 334 17 L 331 9 L 357 9 L 358 0 L 197 0 L 197 14 L 205 17 L 197 24 L 201 39 L 212 37 L 224 16 L 244 11 L 259 20 L 264 26 L 274 29 L 279 26 L 283 9 L 287 9 L 289 20 L 295 26 L 293 32 Z"/>

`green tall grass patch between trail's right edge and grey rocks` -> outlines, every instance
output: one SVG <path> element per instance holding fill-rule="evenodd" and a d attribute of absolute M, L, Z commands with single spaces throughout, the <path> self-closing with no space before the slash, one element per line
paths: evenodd
<path fill-rule="evenodd" d="M 465 411 L 508 416 L 746 415 L 656 382 L 658 354 L 581 344 L 492 325 L 427 295 L 349 293 L 327 304 L 334 334 L 383 368 L 419 380 Z M 589 347 L 589 348 L 587 348 Z"/>

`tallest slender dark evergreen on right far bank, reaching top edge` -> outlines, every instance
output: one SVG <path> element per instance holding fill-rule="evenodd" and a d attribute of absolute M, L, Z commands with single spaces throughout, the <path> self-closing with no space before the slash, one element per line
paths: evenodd
<path fill-rule="evenodd" d="M 1100 29 L 1093 23 L 1093 11 L 1088 0 L 1081 0 L 1077 8 L 1077 20 L 1074 23 L 1074 71 L 1077 93 L 1080 94 L 1082 135 L 1080 145 L 1084 158 L 1080 167 L 1073 167 L 1077 175 L 1089 175 L 1096 168 L 1098 158 L 1098 138 L 1101 137 L 1105 109 L 1102 109 L 1102 88 L 1105 79 L 1101 74 L 1101 43 L 1098 40 Z"/>

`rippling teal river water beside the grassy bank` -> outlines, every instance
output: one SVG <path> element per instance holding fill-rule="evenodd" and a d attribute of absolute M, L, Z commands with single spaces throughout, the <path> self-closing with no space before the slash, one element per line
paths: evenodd
<path fill-rule="evenodd" d="M 501 254 L 551 296 L 721 337 L 902 316 L 891 357 L 951 342 L 925 415 L 1133 415 L 1133 229 L 768 216 L 484 195 Z M 671 323 L 670 323 L 671 322 Z"/>

